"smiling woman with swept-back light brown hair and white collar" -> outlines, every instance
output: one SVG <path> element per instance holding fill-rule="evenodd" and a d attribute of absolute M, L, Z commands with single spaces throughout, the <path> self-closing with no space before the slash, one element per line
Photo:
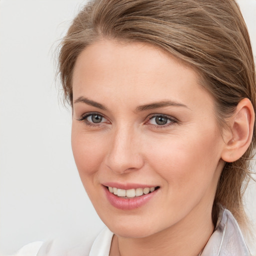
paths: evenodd
<path fill-rule="evenodd" d="M 107 226 L 81 255 L 250 255 L 237 222 L 247 233 L 255 67 L 235 1 L 95 0 L 59 71 L 77 169 Z"/>

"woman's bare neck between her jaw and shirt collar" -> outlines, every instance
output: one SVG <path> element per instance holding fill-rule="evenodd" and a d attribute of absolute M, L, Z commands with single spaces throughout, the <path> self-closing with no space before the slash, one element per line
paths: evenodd
<path fill-rule="evenodd" d="M 199 214 L 204 212 L 202 214 Z M 196 256 L 213 231 L 211 207 L 194 208 L 185 219 L 147 237 L 114 236 L 110 256 Z"/>

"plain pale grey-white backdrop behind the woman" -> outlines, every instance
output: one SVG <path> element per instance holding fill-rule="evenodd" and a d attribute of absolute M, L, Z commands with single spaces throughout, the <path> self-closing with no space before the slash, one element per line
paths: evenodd
<path fill-rule="evenodd" d="M 85 1 L 0 0 L 0 254 L 103 227 L 80 182 L 54 49 Z M 239 0 L 256 52 L 256 0 Z M 256 186 L 246 206 L 256 219 Z M 90 235 L 88 236 L 88 232 Z"/>

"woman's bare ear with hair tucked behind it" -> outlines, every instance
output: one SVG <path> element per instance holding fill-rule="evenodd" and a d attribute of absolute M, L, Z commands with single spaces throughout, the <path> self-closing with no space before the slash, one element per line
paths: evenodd
<path fill-rule="evenodd" d="M 243 98 L 229 119 L 230 129 L 224 132 L 226 144 L 221 153 L 222 160 L 233 162 L 247 150 L 252 138 L 254 115 L 250 100 Z"/>

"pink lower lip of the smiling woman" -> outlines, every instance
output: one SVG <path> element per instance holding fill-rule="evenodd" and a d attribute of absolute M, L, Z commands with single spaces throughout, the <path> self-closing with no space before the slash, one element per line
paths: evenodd
<path fill-rule="evenodd" d="M 131 209 L 141 207 L 142 205 L 147 203 L 159 190 L 159 188 L 158 188 L 158 189 L 154 190 L 153 192 L 150 192 L 148 194 L 143 194 L 138 197 L 122 198 L 122 197 L 118 197 L 117 195 L 109 192 L 107 187 L 104 186 L 103 188 L 105 190 L 106 197 L 107 197 L 108 201 L 111 203 L 111 205 L 113 205 L 115 208 L 121 209 L 121 210 L 131 210 Z"/>

